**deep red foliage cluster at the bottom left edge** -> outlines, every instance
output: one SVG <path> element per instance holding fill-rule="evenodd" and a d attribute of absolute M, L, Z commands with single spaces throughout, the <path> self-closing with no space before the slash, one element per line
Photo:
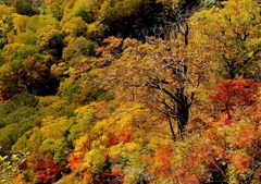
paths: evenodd
<path fill-rule="evenodd" d="M 53 160 L 44 160 L 34 164 L 38 183 L 51 183 L 59 174 L 59 167 Z"/>

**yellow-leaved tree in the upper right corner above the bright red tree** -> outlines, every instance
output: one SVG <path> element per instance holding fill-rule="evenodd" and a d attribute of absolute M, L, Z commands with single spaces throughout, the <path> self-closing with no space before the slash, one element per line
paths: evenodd
<path fill-rule="evenodd" d="M 195 13 L 191 23 L 220 63 L 222 76 L 260 78 L 260 3 L 229 0 Z"/>

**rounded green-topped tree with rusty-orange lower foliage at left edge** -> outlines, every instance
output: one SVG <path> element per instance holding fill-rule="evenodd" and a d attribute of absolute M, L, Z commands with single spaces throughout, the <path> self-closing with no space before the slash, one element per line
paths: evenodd
<path fill-rule="evenodd" d="M 58 81 L 51 76 L 48 62 L 40 53 L 39 47 L 11 44 L 4 47 L 2 53 L 7 63 L 1 66 L 1 71 L 9 70 L 2 73 L 3 76 L 0 79 L 3 94 L 8 93 L 9 97 L 12 97 L 21 90 L 37 95 L 54 93 Z"/>

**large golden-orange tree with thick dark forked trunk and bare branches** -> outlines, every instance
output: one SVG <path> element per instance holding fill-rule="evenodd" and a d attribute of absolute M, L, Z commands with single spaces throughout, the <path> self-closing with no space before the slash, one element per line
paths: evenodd
<path fill-rule="evenodd" d="M 190 46 L 186 47 L 179 39 L 147 38 L 146 44 L 129 38 L 123 42 L 115 38 L 105 41 L 109 42 L 108 46 L 98 50 L 103 62 L 111 64 L 104 69 L 104 84 L 112 91 L 120 91 L 115 93 L 117 97 L 141 100 L 154 111 L 161 112 L 163 119 L 169 121 L 174 139 L 175 128 L 183 134 L 195 90 L 206 71 L 203 65 L 200 69 L 199 63 L 192 59 Z M 117 52 L 117 48 L 122 48 L 123 52 L 121 49 Z M 173 125 L 173 120 L 177 120 L 177 127 Z"/>

